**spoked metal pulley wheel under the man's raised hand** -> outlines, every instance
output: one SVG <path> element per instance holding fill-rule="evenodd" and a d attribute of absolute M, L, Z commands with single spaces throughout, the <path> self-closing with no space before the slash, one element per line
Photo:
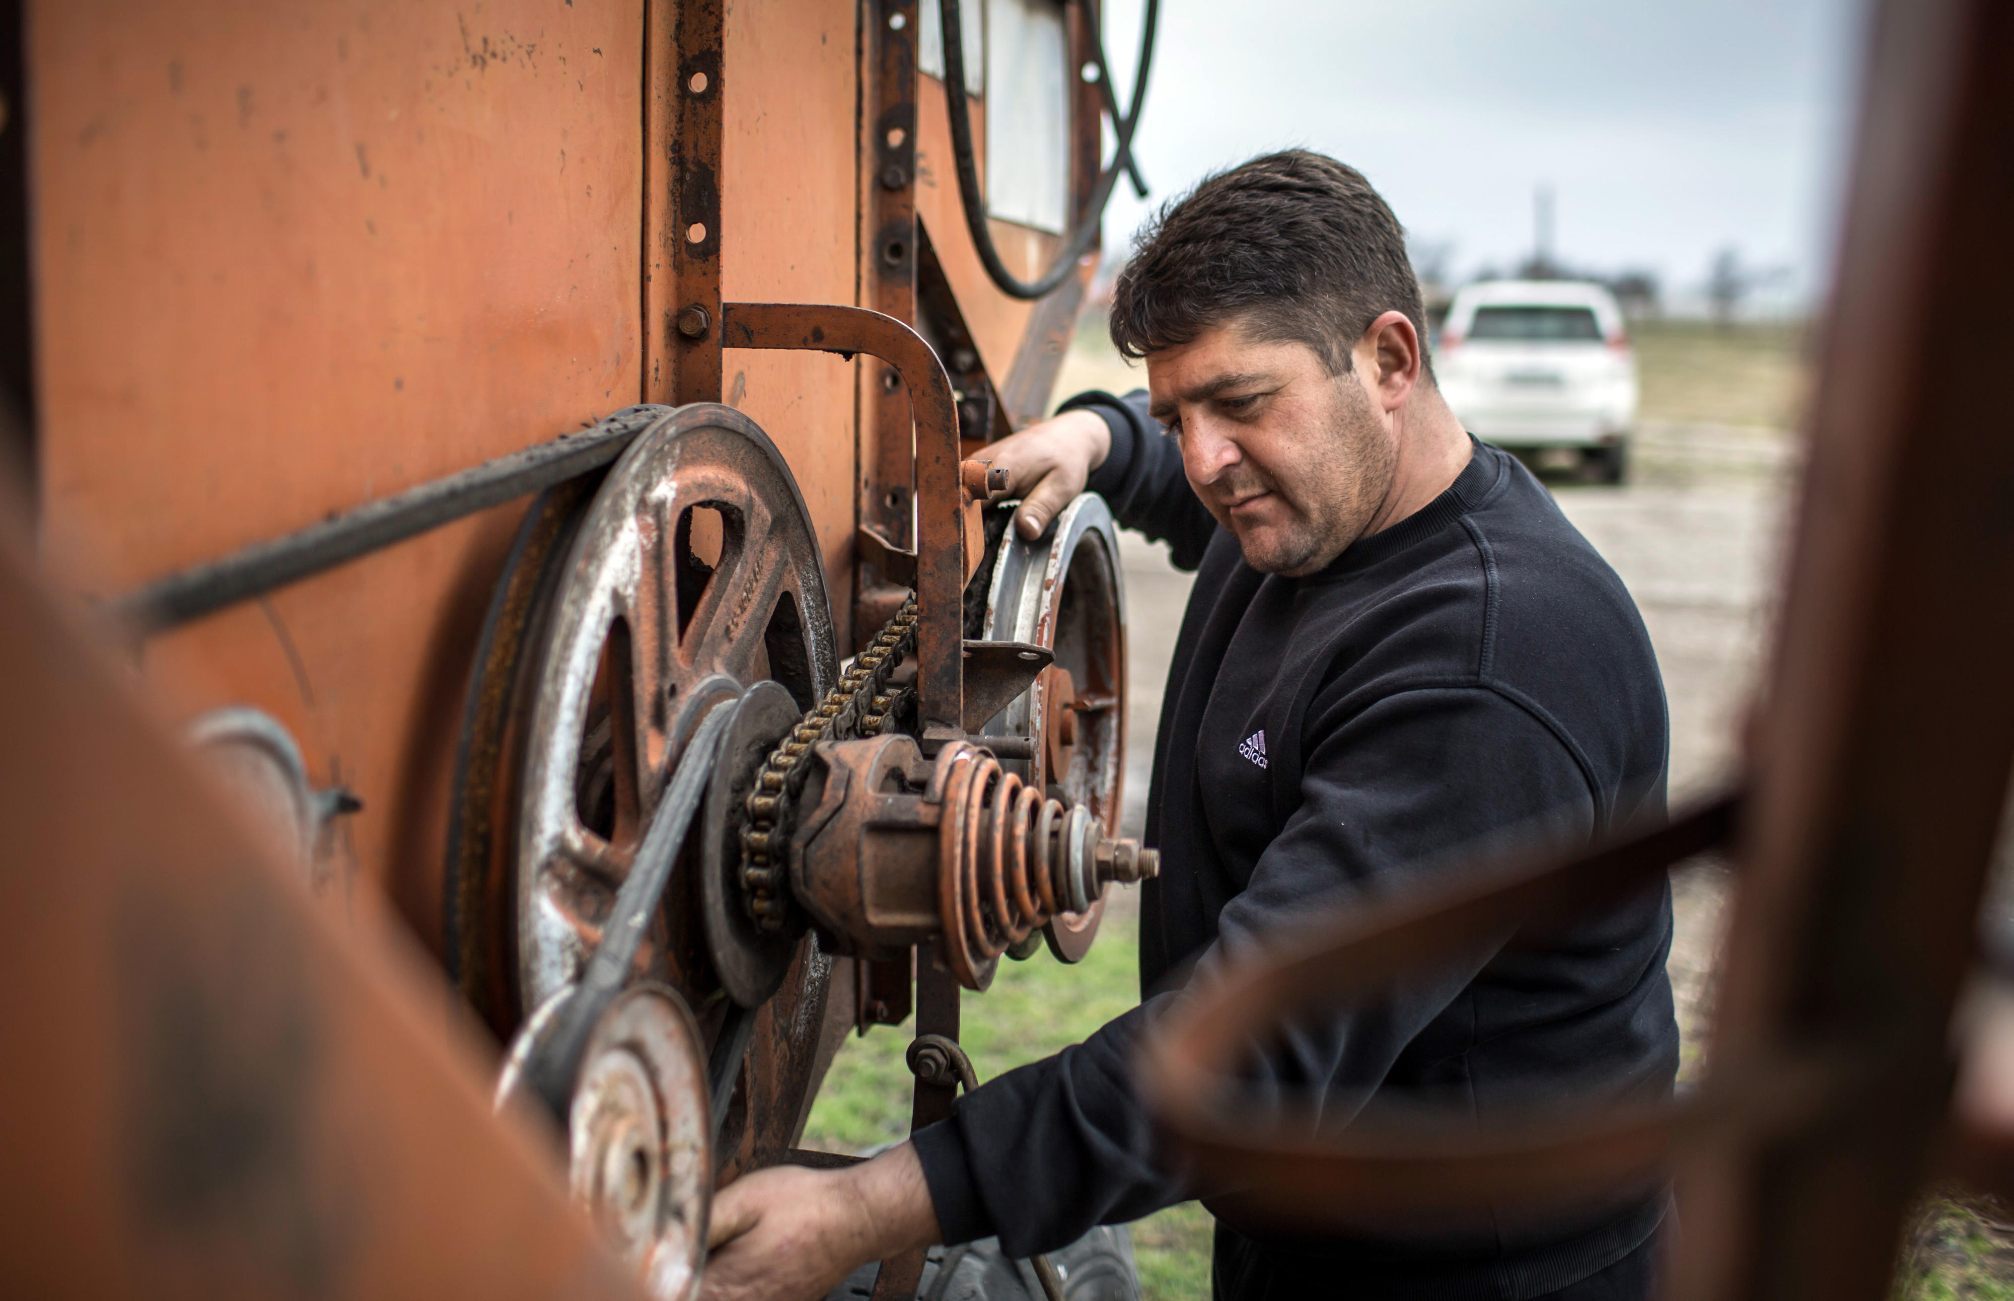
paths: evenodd
<path fill-rule="evenodd" d="M 1098 493 L 1063 508 L 1047 534 L 1001 542 L 987 594 L 985 634 L 1047 646 L 1055 663 L 979 737 L 1029 741 L 1031 759 L 1007 759 L 1039 796 L 1055 796 L 1120 830 L 1126 781 L 1126 586 L 1112 510 Z M 1065 963 L 1090 953 L 1104 896 L 1043 930 Z M 1019 953 L 1019 951 L 1017 951 Z"/>

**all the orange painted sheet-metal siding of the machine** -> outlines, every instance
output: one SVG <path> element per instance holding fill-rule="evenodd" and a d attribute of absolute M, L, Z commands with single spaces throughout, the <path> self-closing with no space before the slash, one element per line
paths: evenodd
<path fill-rule="evenodd" d="M 32 6 L 40 544 L 58 572 L 123 592 L 665 399 L 675 18 L 642 0 Z M 729 300 L 864 302 L 860 22 L 850 0 L 727 8 Z M 1033 306 L 979 270 L 930 79 L 918 113 L 918 207 L 1001 383 Z M 995 228 L 1023 272 L 1049 256 L 1053 238 Z M 719 393 L 798 477 L 842 640 L 864 375 L 729 350 Z M 356 791 L 344 894 L 383 884 L 435 947 L 461 701 L 520 512 L 139 653 L 177 713 L 258 705 L 318 785 Z"/>

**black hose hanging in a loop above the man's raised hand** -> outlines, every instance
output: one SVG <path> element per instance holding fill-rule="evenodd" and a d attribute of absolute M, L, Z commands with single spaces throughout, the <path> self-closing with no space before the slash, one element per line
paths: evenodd
<path fill-rule="evenodd" d="M 1142 193 L 1146 191 L 1132 163 L 1132 137 L 1140 125 L 1140 105 L 1146 101 L 1146 79 L 1154 62 L 1154 24 L 1160 18 L 1160 0 L 1146 0 L 1146 14 L 1140 22 L 1140 62 L 1138 73 L 1134 73 L 1132 105 L 1126 117 L 1118 117 L 1118 95 L 1112 89 L 1112 73 L 1106 66 L 1104 34 L 1098 30 L 1096 10 L 1092 14 L 1092 50 L 1098 62 L 1098 79 L 1104 83 L 1106 109 L 1112 113 L 1112 161 L 1098 173 L 1098 185 L 1092 187 L 1092 197 L 1077 218 L 1077 228 L 1063 242 L 1063 252 L 1035 280 L 1021 280 L 1007 270 L 999 250 L 993 246 L 993 232 L 987 230 L 987 203 L 979 191 L 979 159 L 973 149 L 973 111 L 965 99 L 965 26 L 959 8 L 961 0 L 939 0 L 945 28 L 945 101 L 951 111 L 951 153 L 959 169 L 959 199 L 965 205 L 965 230 L 973 236 L 973 248 L 979 250 L 979 262 L 987 268 L 987 276 L 993 278 L 993 284 L 1003 294 L 1009 298 L 1043 298 L 1075 272 L 1077 258 L 1092 248 L 1106 215 L 1106 201 L 1112 197 L 1112 187 L 1120 175 L 1134 173 L 1134 183 Z"/>

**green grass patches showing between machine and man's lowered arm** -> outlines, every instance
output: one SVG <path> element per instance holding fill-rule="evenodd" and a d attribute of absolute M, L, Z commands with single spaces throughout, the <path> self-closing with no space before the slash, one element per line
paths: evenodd
<path fill-rule="evenodd" d="M 1134 1007 L 1140 1001 L 1136 930 L 1130 910 L 1108 916 L 1092 953 L 1075 967 L 1043 951 L 1027 963 L 1003 961 L 987 993 L 967 993 L 959 1041 L 979 1079 L 1080 1043 Z M 912 1035 L 914 1025 L 904 1023 L 846 1041 L 812 1106 L 804 1146 L 866 1152 L 908 1134 L 910 1075 L 902 1053 Z M 1212 1226 L 1196 1202 L 1170 1206 L 1132 1226 L 1148 1301 L 1210 1295 Z"/>

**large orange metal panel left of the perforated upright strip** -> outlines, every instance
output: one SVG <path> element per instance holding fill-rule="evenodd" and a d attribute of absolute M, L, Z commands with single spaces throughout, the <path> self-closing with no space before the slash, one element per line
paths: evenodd
<path fill-rule="evenodd" d="M 115 592 L 638 401 L 642 4 L 30 12 L 42 542 Z M 147 648 L 365 800 L 439 934 L 439 791 L 520 508 Z M 338 771 L 340 769 L 340 771 Z"/>

